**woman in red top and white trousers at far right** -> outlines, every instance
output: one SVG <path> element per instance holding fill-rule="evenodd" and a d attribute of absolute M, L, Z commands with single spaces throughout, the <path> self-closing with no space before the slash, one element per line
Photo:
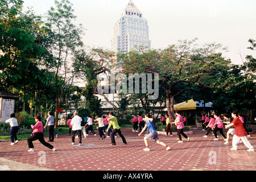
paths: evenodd
<path fill-rule="evenodd" d="M 249 148 L 247 151 L 249 151 L 249 152 L 254 151 L 254 147 L 251 145 L 251 143 L 249 142 L 249 140 L 246 137 L 245 128 L 243 127 L 243 124 L 238 117 L 237 111 L 232 112 L 232 117 L 234 118 L 232 123 L 225 126 L 226 128 L 228 128 L 230 126 L 234 126 L 234 129 L 235 129 L 235 134 L 234 134 L 233 141 L 232 141 L 233 148 L 230 148 L 230 150 L 237 150 L 237 144 L 239 143 L 239 141 L 241 139 L 243 144 L 245 144 L 245 146 L 247 148 Z"/>

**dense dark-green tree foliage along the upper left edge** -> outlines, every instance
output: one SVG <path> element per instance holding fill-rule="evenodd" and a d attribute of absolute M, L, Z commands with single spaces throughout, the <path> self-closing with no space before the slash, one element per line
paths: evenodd
<path fill-rule="evenodd" d="M 28 72 L 36 69 L 44 48 L 39 42 L 40 16 L 22 14 L 23 1 L 0 2 L 0 90 L 24 87 Z"/>

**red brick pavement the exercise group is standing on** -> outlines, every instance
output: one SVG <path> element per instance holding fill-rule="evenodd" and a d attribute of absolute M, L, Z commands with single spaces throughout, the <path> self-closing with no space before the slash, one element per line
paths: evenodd
<path fill-rule="evenodd" d="M 177 135 L 159 135 L 159 139 L 171 147 L 170 151 L 153 140 L 149 141 L 151 151 L 143 151 L 143 136 L 138 137 L 138 133 L 131 129 L 121 130 L 127 145 L 118 136 L 117 145 L 112 146 L 110 138 L 99 140 L 96 132 L 97 136 L 89 134 L 82 138 L 84 146 L 72 146 L 71 136 L 64 134 L 51 142 L 56 151 L 49 150 L 39 141 L 34 142 L 35 152 L 27 152 L 26 140 L 20 140 L 14 146 L 10 146 L 10 142 L 0 142 L 0 158 L 57 171 L 253 171 L 256 167 L 256 153 L 247 152 L 243 143 L 237 151 L 230 150 L 232 137 L 226 145 L 222 136 L 214 141 L 212 134 L 203 138 L 205 131 L 191 129 L 193 134 L 188 135 L 189 142 L 183 138 L 183 143 L 177 143 Z M 256 148 L 255 133 L 249 141 Z M 46 154 L 45 158 L 40 154 Z M 46 159 L 45 164 L 40 164 L 42 159 Z"/>

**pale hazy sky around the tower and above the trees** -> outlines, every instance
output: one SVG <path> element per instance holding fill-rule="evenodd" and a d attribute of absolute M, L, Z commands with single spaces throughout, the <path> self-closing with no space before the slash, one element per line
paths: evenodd
<path fill-rule="evenodd" d="M 32 7 L 45 15 L 54 0 L 23 0 L 23 10 Z M 114 24 L 129 0 L 69 0 L 73 4 L 76 23 L 85 30 L 85 46 L 110 49 Z M 178 40 L 198 38 L 198 44 L 220 43 L 233 64 L 242 64 L 246 55 L 256 57 L 247 49 L 249 39 L 256 40 L 255 0 L 133 0 L 148 20 L 151 48 L 167 48 Z"/>

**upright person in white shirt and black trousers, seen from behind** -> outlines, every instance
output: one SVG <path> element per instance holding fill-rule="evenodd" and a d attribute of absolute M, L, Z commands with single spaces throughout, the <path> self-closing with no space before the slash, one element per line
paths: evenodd
<path fill-rule="evenodd" d="M 78 113 L 74 113 L 74 117 L 71 120 L 72 125 L 72 144 L 75 144 L 75 135 L 79 137 L 79 145 L 82 145 L 82 134 L 81 134 L 81 121 L 82 118 L 79 117 Z"/>

